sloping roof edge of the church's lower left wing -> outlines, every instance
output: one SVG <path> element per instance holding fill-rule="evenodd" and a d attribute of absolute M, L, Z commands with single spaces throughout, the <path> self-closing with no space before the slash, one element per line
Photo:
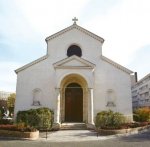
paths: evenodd
<path fill-rule="evenodd" d="M 36 64 L 36 63 L 38 63 L 38 62 L 41 62 L 41 61 L 47 59 L 47 57 L 48 57 L 48 55 L 42 56 L 41 58 L 39 58 L 37 60 L 34 60 L 34 61 L 32 61 L 32 62 L 30 62 L 30 63 L 28 63 L 28 64 L 26 64 L 26 65 L 24 65 L 24 66 L 22 66 L 22 67 L 20 67 L 18 69 L 16 69 L 15 72 L 18 73 L 18 72 L 20 72 L 20 71 L 22 71 L 22 70 L 24 70 L 24 69 L 26 69 L 26 68 Z"/>

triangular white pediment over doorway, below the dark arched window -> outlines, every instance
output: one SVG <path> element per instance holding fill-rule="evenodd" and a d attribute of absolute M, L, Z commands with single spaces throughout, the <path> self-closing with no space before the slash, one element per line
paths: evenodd
<path fill-rule="evenodd" d="M 71 68 L 71 69 L 93 69 L 95 64 L 80 58 L 76 55 L 65 58 L 53 64 L 54 68 Z"/>

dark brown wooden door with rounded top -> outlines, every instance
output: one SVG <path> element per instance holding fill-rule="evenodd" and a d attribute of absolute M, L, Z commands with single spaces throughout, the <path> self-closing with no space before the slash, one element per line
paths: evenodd
<path fill-rule="evenodd" d="M 65 121 L 83 121 L 83 89 L 78 83 L 70 83 L 65 88 Z"/>

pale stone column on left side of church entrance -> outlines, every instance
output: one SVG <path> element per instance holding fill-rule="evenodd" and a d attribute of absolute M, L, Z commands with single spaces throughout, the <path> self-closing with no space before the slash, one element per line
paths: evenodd
<path fill-rule="evenodd" d="M 56 109 L 54 112 L 54 124 L 53 130 L 58 130 L 60 128 L 60 88 L 55 89 L 56 92 Z"/>

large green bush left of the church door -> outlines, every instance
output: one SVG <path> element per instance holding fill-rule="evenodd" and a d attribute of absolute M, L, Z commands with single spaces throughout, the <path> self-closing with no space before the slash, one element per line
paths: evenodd
<path fill-rule="evenodd" d="M 17 113 L 17 123 L 37 129 L 50 129 L 53 123 L 53 111 L 48 108 L 30 109 Z"/>

